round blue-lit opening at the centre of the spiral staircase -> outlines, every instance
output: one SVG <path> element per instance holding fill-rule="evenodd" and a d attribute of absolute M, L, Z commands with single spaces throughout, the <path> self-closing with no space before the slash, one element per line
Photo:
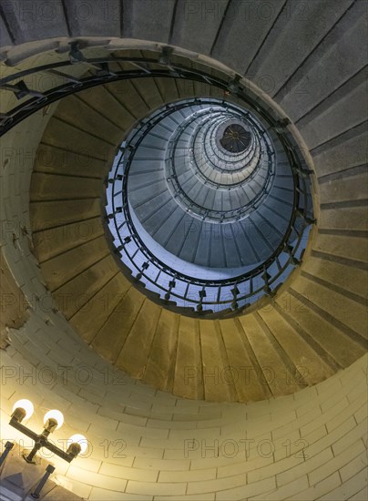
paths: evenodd
<path fill-rule="evenodd" d="M 291 135 L 265 116 L 260 106 L 185 99 L 120 145 L 107 226 L 122 270 L 153 301 L 188 315 L 240 314 L 301 262 L 309 179 Z"/>

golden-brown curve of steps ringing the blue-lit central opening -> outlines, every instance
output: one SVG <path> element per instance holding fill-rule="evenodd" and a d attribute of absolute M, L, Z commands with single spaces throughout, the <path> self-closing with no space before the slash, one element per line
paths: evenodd
<path fill-rule="evenodd" d="M 58 308 L 97 353 L 123 371 L 191 398 L 248 401 L 290 394 L 323 380 L 365 351 L 363 290 L 356 293 L 344 278 L 359 276 L 365 266 L 361 230 L 354 230 L 359 225 L 355 223 L 349 227 L 352 234 L 345 234 L 346 224 L 351 224 L 346 219 L 352 214 L 349 204 L 342 204 L 339 223 L 332 216 L 330 183 L 321 185 L 322 204 L 327 205 L 322 205 L 319 235 L 302 273 L 269 306 L 234 319 L 188 318 L 150 301 L 119 271 L 107 246 L 101 223 L 102 180 L 122 131 L 147 117 L 150 109 L 195 96 L 196 85 L 145 78 L 96 87 L 61 101 L 46 128 L 32 179 L 36 255 Z M 223 97 L 210 86 L 206 94 Z M 74 153 L 72 161 L 66 159 L 66 145 Z M 90 151 L 93 158 L 86 155 Z M 56 161 L 47 162 L 47 154 Z M 327 179 L 332 175 L 333 170 L 324 174 Z M 355 181 L 355 170 L 352 175 L 347 182 Z M 360 171 L 356 175 L 363 176 Z M 345 182 L 333 179 L 335 186 Z M 87 222 L 87 238 L 78 234 L 81 222 Z M 355 260 L 343 257 L 344 242 L 351 238 L 356 242 Z M 267 384 L 259 377 L 251 383 L 239 378 L 215 382 L 207 372 L 222 366 L 238 373 L 245 366 L 255 374 L 272 367 L 288 375 Z M 193 377 L 186 379 L 189 370 Z"/>

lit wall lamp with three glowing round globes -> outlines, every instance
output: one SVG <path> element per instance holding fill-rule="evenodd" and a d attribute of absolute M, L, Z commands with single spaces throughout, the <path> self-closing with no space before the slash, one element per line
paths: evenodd
<path fill-rule="evenodd" d="M 22 421 L 29 419 L 34 412 L 34 406 L 32 402 L 26 399 L 18 400 L 13 406 L 13 414 L 10 418 L 9 424 L 13 426 L 16 430 L 22 432 L 24 435 L 32 438 L 35 445 L 31 452 L 26 455 L 23 453 L 24 458 L 27 463 L 36 464 L 35 455 L 41 449 L 41 447 L 46 447 L 49 451 L 58 455 L 68 463 L 73 461 L 78 454 L 83 454 L 87 449 L 87 439 L 83 435 L 73 435 L 67 440 L 66 452 L 60 449 L 56 445 L 52 444 L 48 440 L 48 435 L 55 432 L 64 423 L 64 416 L 60 411 L 53 409 L 48 411 L 44 416 L 44 431 L 41 434 L 36 434 L 30 430 Z M 7 452 L 6 452 L 7 451 Z M 10 448 L 5 447 L 5 453 L 1 456 L 2 463 L 5 461 L 5 457 L 10 451 Z M 5 457 L 3 457 L 5 455 Z"/>

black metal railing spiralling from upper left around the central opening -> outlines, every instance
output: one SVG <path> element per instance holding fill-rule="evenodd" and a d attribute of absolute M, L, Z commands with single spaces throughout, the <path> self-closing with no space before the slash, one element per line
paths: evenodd
<path fill-rule="evenodd" d="M 251 109 L 254 116 L 266 124 L 267 128 L 274 131 L 288 158 L 293 178 L 291 220 L 280 245 L 266 261 L 253 270 L 229 280 L 198 280 L 174 271 L 148 251 L 134 230 L 128 203 L 118 206 L 114 201 L 113 210 L 107 213 L 108 228 L 117 239 L 116 251 L 125 257 L 125 264 L 134 280 L 144 282 L 152 299 L 160 298 L 159 301 L 166 303 L 170 308 L 175 308 L 175 304 L 179 304 L 182 307 L 180 311 L 184 312 L 186 308 L 185 312 L 188 314 L 195 314 L 196 311 L 209 315 L 211 312 L 235 314 L 261 297 L 274 294 L 292 269 L 300 264 L 308 232 L 315 222 L 310 189 L 310 178 L 313 173 L 306 167 L 302 155 L 298 152 L 298 146 L 288 130 L 287 120 L 281 120 L 274 110 L 263 107 L 261 97 L 257 97 L 246 87 L 241 81 L 241 76 L 223 73 L 220 77 L 213 77 L 209 72 L 173 63 L 170 61 L 170 52 L 172 52 L 171 47 L 162 47 L 161 55 L 158 54 L 157 57 L 114 54 L 87 57 L 84 56 L 83 50 L 80 50 L 79 43 L 73 42 L 64 61 L 15 71 L 14 74 L 0 80 L 0 90 L 13 93 L 18 101 L 9 109 L 0 109 L 0 136 L 39 109 L 63 97 L 120 80 L 158 77 L 197 81 L 220 88 L 224 92 L 222 102 L 224 107 L 229 105 L 226 95 L 237 97 Z M 118 70 L 118 63 L 128 63 L 131 69 Z M 84 76 L 71 75 L 68 69 L 73 66 L 83 68 Z M 111 69 L 112 67 L 114 69 Z M 40 90 L 26 82 L 28 77 L 35 75 L 52 76 L 54 80 L 49 88 Z M 199 99 L 195 101 L 199 102 Z M 173 107 L 175 105 L 167 106 L 168 109 Z M 126 146 L 127 151 L 132 154 L 134 146 Z M 107 181 L 107 198 L 109 189 L 118 191 L 126 188 L 126 167 L 129 158 L 125 158 L 125 153 L 124 149 L 117 157 L 112 176 Z M 126 271 L 125 266 L 123 271 Z"/>

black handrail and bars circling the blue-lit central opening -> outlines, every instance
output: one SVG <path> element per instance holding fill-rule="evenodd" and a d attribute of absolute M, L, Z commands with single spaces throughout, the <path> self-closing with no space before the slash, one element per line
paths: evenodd
<path fill-rule="evenodd" d="M 211 99 L 210 102 L 213 102 L 213 99 Z M 207 104 L 210 104 L 210 102 L 208 102 Z M 206 99 L 202 99 L 201 103 L 206 104 Z M 112 182 L 113 189 L 115 186 L 114 179 L 118 175 L 120 177 L 119 180 L 122 181 L 122 192 L 127 192 L 128 171 L 130 169 L 130 164 L 134 158 L 135 151 L 137 150 L 143 138 L 145 138 L 148 131 L 153 128 L 162 118 L 166 117 L 172 110 L 179 109 L 179 107 L 182 106 L 191 106 L 192 104 L 192 101 L 181 103 L 181 105 L 177 103 L 176 105 L 169 107 L 169 110 L 168 108 L 166 108 L 159 115 L 158 113 L 156 113 L 153 118 L 145 122 L 143 131 L 136 129 L 132 136 L 128 137 L 127 143 L 129 144 L 130 148 L 122 152 L 121 157 L 117 163 L 114 176 L 109 179 L 110 182 Z M 305 218 L 302 217 L 301 213 L 297 210 L 299 207 L 300 192 L 303 194 L 303 207 L 312 210 L 312 205 L 311 200 L 308 199 L 305 178 L 303 176 L 299 176 L 299 170 L 302 172 L 302 166 L 300 166 L 299 169 L 299 158 L 296 155 L 295 149 L 290 146 L 289 141 L 283 136 L 283 134 L 279 133 L 278 138 L 280 139 L 285 153 L 289 158 L 289 162 L 293 167 L 293 169 L 291 170 L 292 176 L 297 181 L 296 183 L 294 183 L 295 189 L 290 224 L 288 230 L 284 234 L 284 238 L 281 240 L 280 245 L 272 253 L 272 255 L 266 261 L 263 261 L 261 264 L 256 266 L 253 270 L 248 271 L 243 275 L 231 277 L 228 279 L 205 280 L 186 275 L 180 271 L 170 268 L 165 262 L 159 260 L 157 256 L 149 251 L 143 240 L 140 239 L 139 234 L 135 230 L 134 224 L 131 220 L 128 202 L 124 203 L 122 208 L 118 208 L 118 214 L 121 214 L 121 212 L 124 213 L 124 224 L 128 229 L 128 234 L 130 237 L 129 242 L 133 240 L 138 251 L 141 252 L 145 257 L 144 261 L 147 264 L 145 270 L 139 268 L 137 263 L 134 261 L 134 258 L 129 254 L 129 243 L 121 242 L 121 245 L 118 247 L 118 252 L 121 256 L 125 256 L 126 259 L 128 259 L 128 262 L 130 262 L 132 269 L 136 269 L 138 271 L 137 278 L 139 281 L 144 280 L 146 281 L 146 284 L 151 283 L 154 286 L 155 290 L 161 291 L 160 296 L 163 298 L 162 301 L 167 302 L 168 304 L 169 300 L 171 300 L 171 302 L 179 302 L 179 304 L 180 302 L 185 304 L 188 302 L 189 304 L 196 306 L 198 312 L 201 312 L 201 314 L 206 314 L 206 312 L 212 313 L 212 310 L 210 309 L 211 307 L 215 307 L 216 309 L 220 306 L 221 308 L 223 307 L 224 311 L 226 309 L 225 307 L 228 306 L 231 312 L 238 312 L 239 310 L 242 310 L 244 308 L 244 304 L 241 305 L 241 303 L 243 303 L 244 301 L 246 301 L 247 304 L 250 304 L 250 302 L 252 302 L 252 298 L 254 299 L 254 301 L 256 301 L 257 299 L 259 299 L 260 294 L 261 296 L 273 294 L 274 290 L 272 290 L 272 284 L 274 284 L 281 277 L 281 275 L 284 273 L 284 271 L 287 270 L 290 265 L 294 267 L 299 264 L 300 260 L 296 257 L 296 255 L 298 251 L 303 251 L 303 249 L 305 248 L 305 245 L 302 246 L 302 239 L 305 236 L 305 230 L 310 225 L 308 220 L 305 220 Z M 124 162 L 124 168 L 122 170 L 118 170 L 122 162 Z M 114 204 L 114 191 L 111 200 Z M 302 211 L 302 214 L 304 214 L 304 212 L 305 210 Z M 109 216 L 113 217 L 113 213 Z M 298 224 L 296 224 L 297 220 Z M 297 227 L 301 227 L 301 230 L 297 230 Z M 296 242 L 289 241 L 292 233 L 297 237 Z M 135 252 L 137 252 L 136 249 Z M 135 255 L 137 255 L 137 253 Z M 281 264 L 281 260 L 279 259 L 281 255 L 283 255 L 284 258 L 287 258 L 286 261 L 282 260 L 285 261 L 283 264 Z M 123 261 L 126 262 L 126 259 L 123 259 Z M 269 274 L 269 271 L 271 271 L 270 268 L 274 263 L 276 264 L 277 272 L 272 272 L 271 274 Z M 158 275 L 165 273 L 169 277 L 170 280 L 168 279 L 168 282 L 171 283 L 169 287 L 165 287 L 162 282 L 152 279 L 152 276 L 149 275 L 147 271 L 149 270 L 149 267 L 152 268 L 152 266 L 157 268 Z M 258 286 L 256 284 L 256 279 L 261 279 Z M 180 293 L 178 291 L 179 281 L 187 284 L 184 293 Z M 172 286 L 173 282 L 177 284 L 177 287 Z M 247 289 L 249 290 L 249 293 L 242 293 L 242 295 L 240 294 L 238 296 L 238 293 L 240 293 L 239 291 L 241 289 L 241 284 L 244 282 L 247 282 L 249 284 L 249 287 Z M 210 296 L 210 293 L 206 295 L 198 294 L 197 298 L 189 297 L 188 291 L 190 286 L 197 286 L 199 287 L 200 291 L 204 292 L 210 292 L 210 288 L 216 288 L 216 301 L 206 300 L 206 297 Z M 231 292 L 231 294 L 229 294 L 230 287 L 232 287 L 233 291 L 238 291 L 238 293 Z M 221 294 L 221 289 L 225 289 L 225 291 L 227 292 L 226 297 L 223 297 L 223 295 Z M 230 314 L 228 310 L 226 310 L 226 314 Z"/>

